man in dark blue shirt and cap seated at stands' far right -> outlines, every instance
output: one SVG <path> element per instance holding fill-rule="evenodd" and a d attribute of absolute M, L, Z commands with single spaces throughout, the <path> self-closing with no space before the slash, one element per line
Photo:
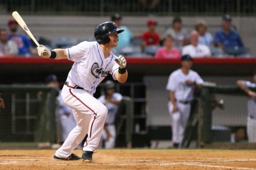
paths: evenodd
<path fill-rule="evenodd" d="M 219 29 L 214 35 L 213 42 L 215 46 L 222 48 L 228 55 L 243 55 L 247 53 L 239 34 L 234 29 L 231 29 L 232 19 L 230 15 L 224 15 L 222 19 L 222 29 Z"/>

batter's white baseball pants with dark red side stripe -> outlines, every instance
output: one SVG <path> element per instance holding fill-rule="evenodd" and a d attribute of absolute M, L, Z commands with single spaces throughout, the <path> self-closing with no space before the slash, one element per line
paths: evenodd
<path fill-rule="evenodd" d="M 94 151 L 98 147 L 105 120 L 107 118 L 107 107 L 95 99 L 93 95 L 85 90 L 75 89 L 75 84 L 69 82 L 68 86 L 62 88 L 62 99 L 64 103 L 72 108 L 77 126 L 68 134 L 55 155 L 57 157 L 68 157 L 79 143 L 88 134 L 83 151 Z"/>

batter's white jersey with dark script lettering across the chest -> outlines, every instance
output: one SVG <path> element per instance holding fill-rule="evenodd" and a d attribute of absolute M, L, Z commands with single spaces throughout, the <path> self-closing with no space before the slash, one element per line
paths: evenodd
<path fill-rule="evenodd" d="M 68 60 L 74 61 L 68 73 L 67 82 L 72 82 L 84 90 L 94 93 L 98 84 L 110 73 L 115 78 L 119 65 L 114 61 L 115 55 L 105 59 L 98 42 L 81 42 L 71 48 L 66 48 Z"/>

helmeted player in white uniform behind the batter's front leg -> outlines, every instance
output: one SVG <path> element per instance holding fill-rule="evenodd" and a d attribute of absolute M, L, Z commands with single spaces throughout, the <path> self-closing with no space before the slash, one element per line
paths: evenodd
<path fill-rule="evenodd" d="M 122 94 L 115 92 L 115 84 L 108 80 L 104 84 L 104 95 L 98 98 L 108 109 L 108 115 L 105 121 L 104 130 L 102 132 L 102 140 L 105 141 L 105 149 L 113 149 L 115 147 L 115 116 L 118 106 L 122 100 Z"/>

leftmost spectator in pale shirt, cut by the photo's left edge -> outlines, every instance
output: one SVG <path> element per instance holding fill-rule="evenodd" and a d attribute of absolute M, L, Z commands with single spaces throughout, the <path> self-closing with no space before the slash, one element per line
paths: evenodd
<path fill-rule="evenodd" d="M 18 48 L 15 42 L 8 40 L 6 29 L 0 29 L 0 57 L 10 57 L 18 54 Z"/>

